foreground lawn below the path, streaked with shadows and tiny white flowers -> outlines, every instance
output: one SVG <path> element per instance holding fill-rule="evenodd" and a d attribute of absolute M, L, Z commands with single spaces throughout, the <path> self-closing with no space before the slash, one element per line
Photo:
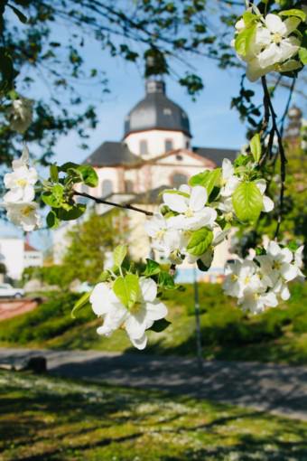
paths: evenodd
<path fill-rule="evenodd" d="M 307 423 L 265 412 L 0 372 L 1 461 L 307 459 Z"/>

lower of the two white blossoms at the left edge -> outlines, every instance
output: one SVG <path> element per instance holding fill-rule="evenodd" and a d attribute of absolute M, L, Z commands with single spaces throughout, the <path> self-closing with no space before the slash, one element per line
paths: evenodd
<path fill-rule="evenodd" d="M 37 203 L 6 202 L 3 205 L 7 212 L 7 218 L 16 226 L 21 226 L 23 230 L 31 231 L 41 226 L 42 221 Z"/>

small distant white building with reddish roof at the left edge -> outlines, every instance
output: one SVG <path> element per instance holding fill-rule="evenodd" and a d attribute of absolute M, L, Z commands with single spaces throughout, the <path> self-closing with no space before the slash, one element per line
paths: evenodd
<path fill-rule="evenodd" d="M 29 267 L 42 267 L 42 251 L 34 249 L 23 239 L 0 238 L 0 259 L 5 264 L 6 275 L 19 280 L 23 269 Z"/>

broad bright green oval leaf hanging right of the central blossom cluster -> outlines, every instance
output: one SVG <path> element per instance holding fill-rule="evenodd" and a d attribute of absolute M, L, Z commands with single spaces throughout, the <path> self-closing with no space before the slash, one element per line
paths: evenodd
<path fill-rule="evenodd" d="M 263 198 L 256 183 L 240 183 L 232 195 L 237 218 L 240 221 L 256 221 L 263 208 Z"/>

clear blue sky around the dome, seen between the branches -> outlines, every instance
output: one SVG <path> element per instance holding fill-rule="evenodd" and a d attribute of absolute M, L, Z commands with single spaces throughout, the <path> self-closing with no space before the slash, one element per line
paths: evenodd
<path fill-rule="evenodd" d="M 61 31 L 61 33 L 61 38 L 65 39 L 65 32 Z M 103 60 L 109 79 L 110 94 L 107 94 L 98 106 L 98 127 L 88 131 L 88 151 L 85 152 L 79 147 L 80 140 L 77 135 L 71 133 L 62 136 L 55 149 L 54 160 L 58 163 L 67 161 L 82 163 L 104 141 L 121 140 L 126 114 L 144 98 L 144 79 L 142 72 L 134 63 L 102 54 L 94 42 L 89 42 L 85 47 L 84 58 L 89 68 L 94 67 L 98 59 Z M 189 65 L 202 77 L 205 84 L 196 101 L 193 101 L 186 94 L 185 89 L 172 78 L 167 78 L 165 81 L 168 97 L 184 108 L 190 118 L 192 145 L 239 149 L 246 144 L 246 127 L 239 120 L 236 109 L 230 109 L 230 101 L 238 94 L 241 71 L 220 70 L 214 61 L 200 57 L 191 58 Z M 251 84 L 250 88 L 256 91 L 256 100 L 260 103 L 262 97 L 260 84 Z M 48 89 L 42 85 L 37 90 L 43 93 Z M 96 96 L 100 97 L 97 92 L 102 91 L 98 87 L 85 89 L 87 90 L 94 99 Z M 88 99 L 88 102 L 91 103 L 92 99 Z M 300 101 L 295 101 L 295 97 L 294 102 L 300 105 Z M 274 100 L 277 113 L 283 112 L 285 103 L 286 94 L 281 91 Z M 0 235 L 20 236 L 22 233 L 13 226 L 3 223 L 0 225 Z M 50 245 L 51 237 L 47 231 L 36 231 L 32 233 L 29 240 L 34 246 L 46 249 Z"/>

